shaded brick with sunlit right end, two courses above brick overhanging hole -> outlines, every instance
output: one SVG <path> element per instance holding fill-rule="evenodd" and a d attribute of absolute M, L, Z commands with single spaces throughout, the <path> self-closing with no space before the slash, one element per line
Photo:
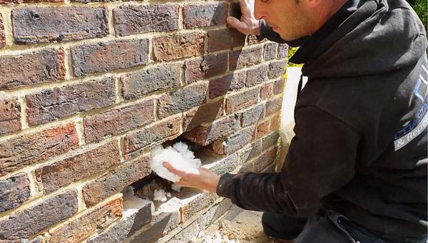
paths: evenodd
<path fill-rule="evenodd" d="M 230 91 L 238 91 L 244 88 L 245 71 L 239 73 L 229 73 L 221 78 L 210 80 L 210 98 L 225 95 Z"/>

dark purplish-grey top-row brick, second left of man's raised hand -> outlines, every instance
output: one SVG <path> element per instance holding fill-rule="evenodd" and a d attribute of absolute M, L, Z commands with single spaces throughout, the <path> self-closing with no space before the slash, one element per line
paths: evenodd
<path fill-rule="evenodd" d="M 178 10 L 176 4 L 119 6 L 113 9 L 116 35 L 175 31 L 178 29 Z"/>

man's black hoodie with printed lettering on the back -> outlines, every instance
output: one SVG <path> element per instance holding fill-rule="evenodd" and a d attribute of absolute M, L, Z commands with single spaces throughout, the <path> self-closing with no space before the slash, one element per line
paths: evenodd
<path fill-rule="evenodd" d="M 260 37 L 280 41 L 261 24 Z M 427 37 L 404 0 L 348 0 L 301 44 L 308 77 L 281 172 L 225 174 L 247 210 L 336 210 L 379 234 L 427 234 Z"/>

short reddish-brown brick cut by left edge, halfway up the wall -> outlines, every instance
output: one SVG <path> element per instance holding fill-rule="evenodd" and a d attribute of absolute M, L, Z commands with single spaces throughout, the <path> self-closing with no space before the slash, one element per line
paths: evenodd
<path fill-rule="evenodd" d="M 0 134 L 21 130 L 21 105 L 16 98 L 0 100 Z"/>

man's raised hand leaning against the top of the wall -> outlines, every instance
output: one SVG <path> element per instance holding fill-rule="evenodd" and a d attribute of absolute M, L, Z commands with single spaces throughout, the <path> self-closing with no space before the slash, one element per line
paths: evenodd
<path fill-rule="evenodd" d="M 228 24 L 246 35 L 260 35 L 259 21 L 254 17 L 254 0 L 238 1 L 243 15 L 241 16 L 240 21 L 235 17 L 228 17 Z"/>

